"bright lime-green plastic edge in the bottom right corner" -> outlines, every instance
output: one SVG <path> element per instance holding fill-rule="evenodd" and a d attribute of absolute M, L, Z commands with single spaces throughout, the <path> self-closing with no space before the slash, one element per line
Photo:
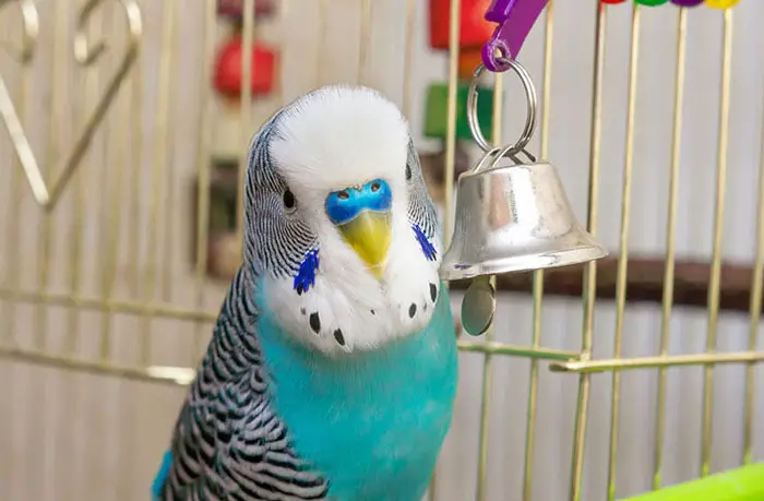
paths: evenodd
<path fill-rule="evenodd" d="M 764 463 L 711 475 L 621 501 L 762 501 Z"/>

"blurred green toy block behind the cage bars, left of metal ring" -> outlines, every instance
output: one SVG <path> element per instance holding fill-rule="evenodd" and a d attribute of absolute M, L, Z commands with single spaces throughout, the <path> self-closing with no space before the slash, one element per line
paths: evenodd
<path fill-rule="evenodd" d="M 467 122 L 467 94 L 469 85 L 459 83 L 456 88 L 456 138 L 473 139 Z M 490 143 L 493 118 L 493 88 L 478 87 L 477 103 L 478 122 L 480 130 Z M 431 84 L 427 91 L 425 103 L 425 136 L 444 140 L 446 136 L 449 110 L 449 85 L 445 83 Z"/>

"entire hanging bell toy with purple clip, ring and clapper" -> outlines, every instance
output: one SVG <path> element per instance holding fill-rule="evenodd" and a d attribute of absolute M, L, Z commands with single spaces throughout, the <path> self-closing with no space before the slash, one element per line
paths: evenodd
<path fill-rule="evenodd" d="M 556 168 L 537 162 L 526 146 L 536 129 L 537 98 L 530 75 L 514 59 L 546 0 L 494 0 L 486 19 L 500 22 L 482 48 L 482 62 L 467 94 L 467 121 L 485 155 L 458 178 L 451 246 L 443 257 L 444 281 L 473 278 L 462 303 L 471 335 L 493 320 L 496 290 L 489 276 L 597 260 L 607 251 L 576 220 Z M 514 144 L 490 147 L 478 116 L 478 82 L 486 69 L 512 70 L 523 83 L 527 118 Z"/>

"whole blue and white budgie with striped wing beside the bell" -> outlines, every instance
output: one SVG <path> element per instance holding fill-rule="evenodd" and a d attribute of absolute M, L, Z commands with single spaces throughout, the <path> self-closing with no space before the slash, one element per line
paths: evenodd
<path fill-rule="evenodd" d="M 327 86 L 254 138 L 243 264 L 155 499 L 419 501 L 451 424 L 456 336 L 408 126 Z"/>

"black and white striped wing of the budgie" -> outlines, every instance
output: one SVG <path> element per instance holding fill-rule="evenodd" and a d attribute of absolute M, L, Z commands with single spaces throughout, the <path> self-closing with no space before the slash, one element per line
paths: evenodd
<path fill-rule="evenodd" d="M 325 479 L 294 453 L 267 399 L 246 282 L 239 272 L 178 418 L 164 501 L 326 497 Z"/>

